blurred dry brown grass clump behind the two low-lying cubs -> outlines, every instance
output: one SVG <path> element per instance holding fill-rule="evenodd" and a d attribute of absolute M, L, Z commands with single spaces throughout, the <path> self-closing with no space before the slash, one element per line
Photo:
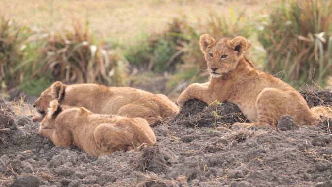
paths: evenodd
<path fill-rule="evenodd" d="M 50 35 L 35 60 L 34 76 L 50 72 L 53 79 L 66 83 L 125 85 L 126 62 L 121 57 L 95 45 L 87 26 Z"/>

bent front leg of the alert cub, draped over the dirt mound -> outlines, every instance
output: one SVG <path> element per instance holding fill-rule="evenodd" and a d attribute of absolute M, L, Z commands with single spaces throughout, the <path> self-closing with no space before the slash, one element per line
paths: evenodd
<path fill-rule="evenodd" d="M 191 99 L 199 99 L 207 104 L 210 104 L 213 101 L 213 97 L 208 85 L 209 83 L 194 83 L 189 85 L 178 98 L 177 102 L 179 106 L 183 107 L 184 103 Z"/>

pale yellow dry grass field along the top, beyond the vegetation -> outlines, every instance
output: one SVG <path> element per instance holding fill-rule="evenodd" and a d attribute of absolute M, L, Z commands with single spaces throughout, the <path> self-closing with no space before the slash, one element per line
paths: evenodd
<path fill-rule="evenodd" d="M 274 2 L 276 0 L 268 0 Z M 88 20 L 102 38 L 132 40 L 141 32 L 159 32 L 174 17 L 195 22 L 209 12 L 229 15 L 246 10 L 248 16 L 265 12 L 260 0 L 1 0 L 0 12 L 19 23 L 44 31 L 71 28 L 73 20 Z"/>

